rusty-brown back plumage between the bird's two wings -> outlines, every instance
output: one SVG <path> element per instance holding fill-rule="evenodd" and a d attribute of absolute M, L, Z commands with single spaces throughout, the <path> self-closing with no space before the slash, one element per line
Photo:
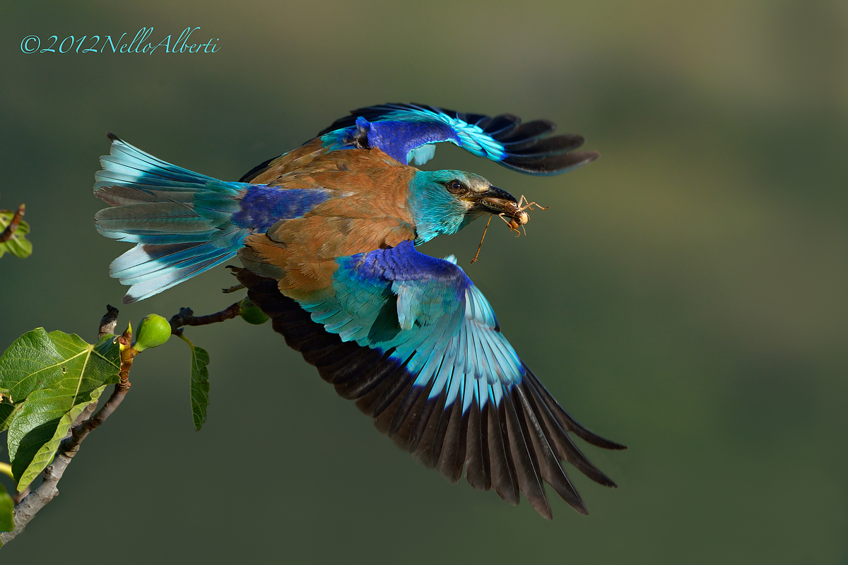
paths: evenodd
<path fill-rule="evenodd" d="M 280 291 L 297 298 L 332 284 L 336 258 L 397 246 L 415 239 L 406 197 L 412 167 L 376 150 L 353 149 L 322 155 L 283 156 L 254 182 L 282 190 L 322 188 L 334 193 L 302 218 L 277 222 L 265 234 L 250 235 L 240 253 L 248 263 L 265 263 Z"/>

